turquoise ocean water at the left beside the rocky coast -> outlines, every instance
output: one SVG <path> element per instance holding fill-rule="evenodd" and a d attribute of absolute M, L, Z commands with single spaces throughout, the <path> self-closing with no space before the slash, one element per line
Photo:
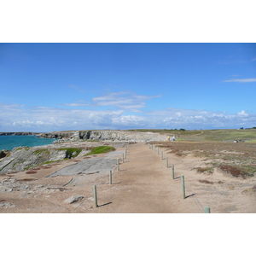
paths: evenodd
<path fill-rule="evenodd" d="M 0 150 L 12 150 L 16 147 L 35 147 L 51 144 L 55 139 L 39 138 L 36 136 L 0 136 Z"/>

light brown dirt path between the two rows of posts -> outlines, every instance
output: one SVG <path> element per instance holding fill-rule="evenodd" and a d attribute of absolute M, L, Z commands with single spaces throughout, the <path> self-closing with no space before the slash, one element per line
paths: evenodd
<path fill-rule="evenodd" d="M 100 207 L 93 212 L 201 212 L 192 196 L 183 199 L 180 178 L 172 179 L 172 168 L 166 168 L 166 160 L 143 143 L 128 146 L 125 162 L 120 172 L 113 173 L 110 189 L 109 199 L 104 198 L 105 191 L 99 191 Z"/>

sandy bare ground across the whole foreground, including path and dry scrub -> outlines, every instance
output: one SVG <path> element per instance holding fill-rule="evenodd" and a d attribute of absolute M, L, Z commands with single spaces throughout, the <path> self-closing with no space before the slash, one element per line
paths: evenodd
<path fill-rule="evenodd" d="M 236 165 L 235 156 L 238 155 L 242 157 L 241 161 L 247 160 L 248 166 L 253 166 L 254 143 L 251 146 L 245 143 L 201 142 L 155 144 L 165 146 L 160 148 L 164 160 L 157 150 L 154 152 L 149 148 L 152 145 L 129 144 L 124 163 L 120 161 L 120 172 L 117 169 L 113 172 L 113 184 L 109 184 L 108 172 L 105 175 L 95 172 L 47 177 L 65 166 L 86 161 L 88 156 L 2 175 L 0 181 L 5 180 L 15 186 L 0 192 L 0 212 L 201 213 L 206 206 L 212 213 L 256 212 L 255 177 L 234 176 L 216 164 Z M 124 152 L 125 148 L 116 150 Z M 90 158 L 102 155 L 107 154 L 90 155 Z M 224 160 L 227 155 L 234 158 Z M 120 155 L 116 157 L 121 158 Z M 211 168 L 207 169 L 209 166 Z M 180 180 L 182 175 L 185 177 L 185 199 Z M 97 185 L 98 207 L 94 207 L 93 184 Z M 24 186 L 27 189 L 22 189 Z M 72 195 L 83 195 L 84 198 L 73 204 L 66 203 Z"/>

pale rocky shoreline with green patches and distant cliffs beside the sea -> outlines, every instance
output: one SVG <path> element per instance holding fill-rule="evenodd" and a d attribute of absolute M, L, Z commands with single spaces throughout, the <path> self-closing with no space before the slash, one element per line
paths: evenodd
<path fill-rule="evenodd" d="M 24 134 L 25 135 L 25 134 Z M 12 151 L 2 150 L 0 157 L 0 174 L 22 172 L 44 165 L 44 163 L 75 158 L 90 153 L 96 146 L 115 146 L 118 143 L 141 143 L 166 141 L 166 136 L 152 132 L 134 131 L 55 131 L 40 133 L 38 137 L 56 138 L 49 145 L 37 147 L 18 147 Z"/>

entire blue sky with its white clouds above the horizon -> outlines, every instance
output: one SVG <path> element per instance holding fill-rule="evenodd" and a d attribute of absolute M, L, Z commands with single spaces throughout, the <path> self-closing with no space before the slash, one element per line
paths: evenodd
<path fill-rule="evenodd" d="M 0 44 L 0 131 L 256 126 L 256 44 Z"/>

